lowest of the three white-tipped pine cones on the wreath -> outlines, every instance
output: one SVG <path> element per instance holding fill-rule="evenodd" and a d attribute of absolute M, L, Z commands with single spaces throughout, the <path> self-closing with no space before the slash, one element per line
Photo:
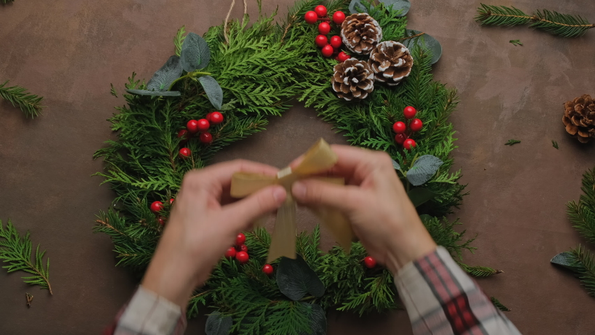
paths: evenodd
<path fill-rule="evenodd" d="M 363 99 L 374 91 L 374 72 L 365 62 L 350 58 L 335 65 L 332 76 L 332 89 L 339 98 L 351 101 L 353 98 Z"/>

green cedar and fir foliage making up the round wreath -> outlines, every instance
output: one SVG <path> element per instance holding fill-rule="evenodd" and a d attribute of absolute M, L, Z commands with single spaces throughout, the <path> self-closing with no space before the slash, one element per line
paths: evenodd
<path fill-rule="evenodd" d="M 326 3 L 329 13 L 347 10 L 346 0 Z M 416 47 L 412 50 L 415 65 L 411 75 L 398 87 L 376 85 L 360 103 L 347 103 L 337 98 L 330 87 L 333 59 L 321 56 L 312 40 L 318 34 L 316 25 L 306 24 L 304 13 L 320 4 L 321 0 L 295 3 L 284 22 L 275 23 L 271 16 L 258 17 L 248 27 L 239 20 L 228 22 L 229 43 L 223 36 L 223 27 L 211 27 L 204 35 L 210 46 L 211 61 L 204 70 L 212 73 L 223 89 L 221 112 L 225 121 L 211 128 L 212 144 L 191 140 L 192 156 L 177 157 L 180 140 L 177 132 L 189 119 L 204 118 L 212 112 L 210 102 L 202 89 L 192 80 L 178 84 L 180 97 L 131 96 L 124 94 L 126 105 L 117 107 L 109 121 L 117 131 L 116 141 L 96 152 L 103 158 L 105 170 L 96 175 L 103 177 L 116 193 L 115 209 L 102 211 L 96 220 L 96 232 L 108 234 L 115 245 L 118 265 L 129 267 L 137 274 L 147 267 L 161 234 L 161 226 L 148 204 L 160 200 L 165 205 L 161 212 L 167 216 L 168 201 L 179 190 L 184 173 L 203 168 L 213 155 L 226 145 L 248 135 L 263 131 L 267 117 L 283 114 L 293 98 L 314 107 L 318 114 L 344 133 L 352 145 L 387 151 L 400 165 L 411 163 L 416 155 L 431 154 L 444 163 L 434 177 L 423 187 L 436 193 L 436 198 L 418 207 L 432 237 L 445 246 L 454 257 L 462 260 L 462 251 L 473 251 L 473 238 L 457 232 L 458 221 L 441 219 L 457 207 L 464 193 L 459 184 L 461 172 L 450 172 L 455 149 L 453 125 L 448 117 L 458 103 L 456 91 L 432 78 L 429 52 Z M 369 6 L 369 3 L 365 3 Z M 405 34 L 406 18 L 397 17 L 396 11 L 382 3 L 372 13 L 392 39 Z M 179 51 L 184 39 L 184 27 L 174 38 L 174 52 Z M 144 89 L 145 82 L 135 74 L 128 78 L 126 89 Z M 403 120 L 406 105 L 418 109 L 424 128 L 414 135 L 418 147 L 403 151 L 395 144 L 392 124 Z M 408 188 L 409 181 L 402 179 Z M 351 253 L 335 246 L 328 253 L 318 249 L 320 230 L 298 234 L 298 254 L 314 269 L 323 284 L 322 297 L 307 296 L 302 301 L 287 299 L 277 287 L 274 276 L 261 271 L 270 245 L 270 234 L 263 229 L 247 232 L 246 244 L 250 251 L 247 265 L 223 259 L 212 272 L 203 288 L 194 292 L 188 306 L 190 318 L 200 308 L 210 306 L 222 315 L 233 318 L 234 334 L 302 334 L 313 329 L 312 320 L 324 311 L 337 309 L 367 313 L 388 311 L 399 306 L 392 275 L 382 268 L 367 269 L 361 260 L 366 251 L 360 243 L 353 244 Z M 272 263 L 277 266 L 279 260 Z M 462 264 L 462 263 L 461 263 Z M 463 266 L 463 265 L 462 265 Z M 466 268 L 467 267 L 467 268 Z M 471 274 L 476 269 L 464 265 Z M 482 267 L 480 275 L 495 274 L 497 270 Z"/>

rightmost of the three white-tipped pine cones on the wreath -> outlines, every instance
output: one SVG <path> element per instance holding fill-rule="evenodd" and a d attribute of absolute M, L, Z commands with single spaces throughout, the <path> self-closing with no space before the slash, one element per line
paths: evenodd
<path fill-rule="evenodd" d="M 370 54 L 369 64 L 376 80 L 395 86 L 411 73 L 413 57 L 405 45 L 387 40 L 376 45 Z"/>

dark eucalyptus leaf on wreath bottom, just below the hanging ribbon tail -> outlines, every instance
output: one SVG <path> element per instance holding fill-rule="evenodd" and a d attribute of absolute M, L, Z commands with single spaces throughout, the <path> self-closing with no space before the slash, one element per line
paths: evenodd
<path fill-rule="evenodd" d="M 314 297 L 324 294 L 324 284 L 301 257 L 295 260 L 281 258 L 277 268 L 277 285 L 281 293 L 293 301 L 302 299 L 306 293 Z"/>

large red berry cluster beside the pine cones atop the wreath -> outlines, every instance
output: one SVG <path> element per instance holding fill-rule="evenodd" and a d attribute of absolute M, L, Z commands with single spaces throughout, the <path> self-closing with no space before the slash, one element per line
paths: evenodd
<path fill-rule="evenodd" d="M 331 36 L 330 43 L 328 40 L 327 35 L 330 33 L 332 27 L 330 27 L 330 22 L 335 22 L 335 24 L 341 24 L 345 20 L 345 13 L 337 10 L 335 14 L 332 15 L 332 19 L 330 19 L 327 15 L 326 7 L 323 5 L 318 5 L 314 10 L 310 10 L 309 12 L 304 15 L 304 20 L 309 24 L 315 24 L 318 21 L 322 21 L 318 24 L 318 33 L 320 35 L 316 36 L 314 39 L 314 43 L 321 47 L 321 53 L 324 57 L 332 57 L 335 56 L 337 61 L 346 61 L 349 59 L 349 55 L 345 52 L 339 52 L 339 48 L 343 45 L 343 41 L 341 40 L 340 36 Z"/>

